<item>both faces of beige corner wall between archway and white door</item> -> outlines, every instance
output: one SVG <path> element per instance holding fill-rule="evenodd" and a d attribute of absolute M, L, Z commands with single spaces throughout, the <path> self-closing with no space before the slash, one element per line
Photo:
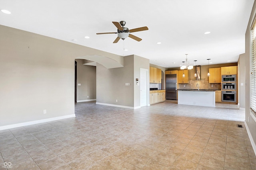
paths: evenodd
<path fill-rule="evenodd" d="M 140 106 L 140 86 L 135 81 L 140 78 L 140 68 L 149 69 L 149 60 L 136 55 L 125 56 L 121 68 L 106 69 L 97 63 L 97 103 Z"/>

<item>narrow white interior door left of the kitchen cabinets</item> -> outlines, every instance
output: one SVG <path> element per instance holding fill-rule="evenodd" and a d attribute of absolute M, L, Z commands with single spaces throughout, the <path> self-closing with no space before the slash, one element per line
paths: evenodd
<path fill-rule="evenodd" d="M 147 70 L 140 68 L 140 107 L 147 106 Z"/>

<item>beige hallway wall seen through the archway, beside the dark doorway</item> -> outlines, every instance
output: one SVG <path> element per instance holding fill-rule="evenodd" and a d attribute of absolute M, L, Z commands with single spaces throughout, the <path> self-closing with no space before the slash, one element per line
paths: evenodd
<path fill-rule="evenodd" d="M 83 59 L 76 59 L 77 62 L 77 101 L 96 99 L 96 66 L 83 64 Z M 87 98 L 87 96 L 89 96 Z"/>

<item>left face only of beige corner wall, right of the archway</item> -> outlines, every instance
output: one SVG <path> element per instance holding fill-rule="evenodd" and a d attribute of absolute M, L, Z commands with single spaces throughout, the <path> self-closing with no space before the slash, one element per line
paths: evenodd
<path fill-rule="evenodd" d="M 101 64 L 96 66 L 96 101 L 103 104 L 134 106 L 134 57 L 124 57 L 124 67 L 107 69 Z M 125 86 L 130 83 L 130 86 Z M 117 100 L 117 102 L 116 102 Z"/>

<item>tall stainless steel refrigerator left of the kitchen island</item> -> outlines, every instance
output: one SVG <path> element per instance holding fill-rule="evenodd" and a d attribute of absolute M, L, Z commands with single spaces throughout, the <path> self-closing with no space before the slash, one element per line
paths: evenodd
<path fill-rule="evenodd" d="M 177 74 L 165 75 L 166 99 L 177 100 Z"/>

